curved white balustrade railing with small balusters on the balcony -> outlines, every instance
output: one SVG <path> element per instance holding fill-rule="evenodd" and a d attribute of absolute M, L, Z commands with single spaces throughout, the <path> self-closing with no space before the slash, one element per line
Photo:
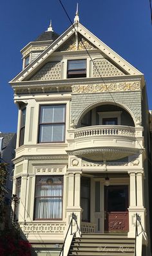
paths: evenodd
<path fill-rule="evenodd" d="M 126 137 L 135 137 L 135 127 L 98 125 L 82 127 L 75 130 L 75 139 L 98 135 L 122 135 Z"/>

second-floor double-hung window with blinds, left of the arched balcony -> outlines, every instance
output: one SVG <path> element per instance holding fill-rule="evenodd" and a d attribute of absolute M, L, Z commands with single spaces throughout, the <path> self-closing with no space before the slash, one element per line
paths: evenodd
<path fill-rule="evenodd" d="M 66 105 L 45 105 L 40 108 L 39 143 L 64 142 Z"/>

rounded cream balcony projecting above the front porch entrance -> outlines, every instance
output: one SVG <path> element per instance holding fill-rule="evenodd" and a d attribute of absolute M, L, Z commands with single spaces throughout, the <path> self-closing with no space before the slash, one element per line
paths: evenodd
<path fill-rule="evenodd" d="M 143 149 L 142 126 L 97 125 L 68 130 L 70 155 L 95 161 L 115 160 Z"/>

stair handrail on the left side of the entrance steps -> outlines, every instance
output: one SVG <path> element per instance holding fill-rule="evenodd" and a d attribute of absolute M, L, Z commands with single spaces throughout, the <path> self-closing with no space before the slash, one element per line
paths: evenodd
<path fill-rule="evenodd" d="M 77 226 L 77 230 L 75 231 L 75 232 L 73 232 L 73 220 L 75 221 L 75 224 L 76 224 L 76 226 Z M 68 230 L 67 230 L 67 232 L 66 232 L 66 237 L 64 238 L 64 242 L 63 242 L 63 244 L 62 244 L 62 248 L 61 248 L 61 251 L 60 251 L 60 254 L 59 254 L 59 256 L 64 256 L 64 246 L 65 246 L 65 243 L 66 243 L 66 239 L 67 239 L 67 237 L 68 237 L 68 232 L 70 231 L 70 228 L 71 228 L 71 233 L 70 233 L 70 235 L 75 235 L 75 233 L 77 233 L 77 231 L 79 231 L 79 235 L 80 235 L 80 237 L 81 237 L 81 230 L 80 230 L 80 228 L 79 228 L 79 225 L 78 225 L 78 223 L 77 223 L 77 216 L 74 214 L 74 213 L 72 213 L 72 216 L 71 216 L 71 220 L 70 220 L 70 224 L 69 224 L 69 226 L 68 226 Z"/>

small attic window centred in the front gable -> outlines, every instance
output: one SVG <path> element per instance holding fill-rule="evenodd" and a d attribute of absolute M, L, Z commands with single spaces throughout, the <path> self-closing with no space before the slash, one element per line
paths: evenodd
<path fill-rule="evenodd" d="M 67 78 L 86 77 L 86 60 L 68 60 Z"/>

